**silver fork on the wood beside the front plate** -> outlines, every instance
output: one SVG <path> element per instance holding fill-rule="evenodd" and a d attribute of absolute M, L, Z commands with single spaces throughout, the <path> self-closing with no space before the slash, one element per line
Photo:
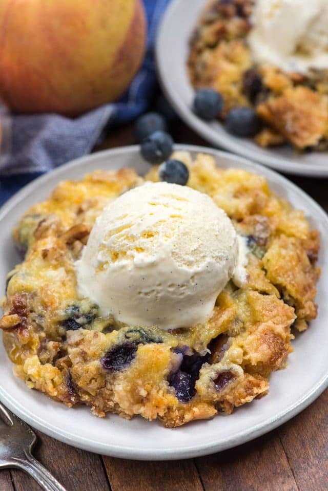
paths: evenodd
<path fill-rule="evenodd" d="M 36 435 L 0 402 L 0 469 L 16 467 L 27 472 L 45 491 L 66 491 L 31 454 Z"/>

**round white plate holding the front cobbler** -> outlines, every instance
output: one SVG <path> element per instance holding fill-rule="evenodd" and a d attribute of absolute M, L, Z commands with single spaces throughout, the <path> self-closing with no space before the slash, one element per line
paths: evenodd
<path fill-rule="evenodd" d="M 322 251 L 328 250 L 328 217 L 303 191 L 265 167 L 209 148 L 177 145 L 177 150 L 206 151 L 221 167 L 240 167 L 268 178 L 271 188 L 305 211 L 320 230 Z M 49 196 L 59 180 L 76 179 L 91 170 L 134 167 L 148 169 L 137 146 L 118 148 L 84 157 L 59 167 L 19 191 L 0 211 L 0 285 L 4 293 L 6 273 L 18 262 L 11 229 L 23 212 Z M 12 364 L 0 343 L 0 399 L 29 424 L 58 440 L 81 449 L 115 457 L 145 460 L 181 459 L 228 449 L 268 432 L 299 413 L 328 385 L 328 255 L 321 252 L 322 275 L 318 285 L 319 315 L 310 329 L 298 335 L 288 367 L 271 377 L 270 393 L 238 409 L 230 416 L 193 423 L 169 430 L 157 421 L 137 417 L 131 421 L 116 415 L 93 416 L 86 407 L 68 409 L 45 395 L 29 390 L 12 373 Z"/>

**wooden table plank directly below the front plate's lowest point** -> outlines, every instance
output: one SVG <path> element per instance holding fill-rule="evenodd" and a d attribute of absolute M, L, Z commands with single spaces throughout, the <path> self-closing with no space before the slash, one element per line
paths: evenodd
<path fill-rule="evenodd" d="M 193 460 L 142 462 L 104 457 L 112 491 L 203 491 Z"/>

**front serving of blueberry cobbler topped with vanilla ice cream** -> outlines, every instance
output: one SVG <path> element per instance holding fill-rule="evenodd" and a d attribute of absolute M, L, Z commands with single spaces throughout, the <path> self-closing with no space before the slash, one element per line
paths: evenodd
<path fill-rule="evenodd" d="M 100 417 L 230 414 L 267 394 L 317 314 L 318 232 L 206 154 L 60 182 L 13 234 L 24 260 L 0 327 L 15 374 Z"/>

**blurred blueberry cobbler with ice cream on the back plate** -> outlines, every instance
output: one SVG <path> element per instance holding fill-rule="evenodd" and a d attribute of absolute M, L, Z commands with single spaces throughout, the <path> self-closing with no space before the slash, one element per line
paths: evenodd
<path fill-rule="evenodd" d="M 191 38 L 194 111 L 262 147 L 328 147 L 326 0 L 215 0 Z"/>

